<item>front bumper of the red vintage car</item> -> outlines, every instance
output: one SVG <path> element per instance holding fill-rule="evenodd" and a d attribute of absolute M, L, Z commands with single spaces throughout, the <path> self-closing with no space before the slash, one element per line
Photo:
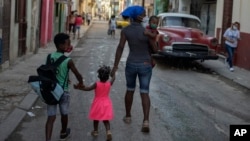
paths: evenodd
<path fill-rule="evenodd" d="M 192 60 L 217 60 L 219 58 L 214 52 L 160 51 L 158 54 L 166 57 L 186 58 Z"/>

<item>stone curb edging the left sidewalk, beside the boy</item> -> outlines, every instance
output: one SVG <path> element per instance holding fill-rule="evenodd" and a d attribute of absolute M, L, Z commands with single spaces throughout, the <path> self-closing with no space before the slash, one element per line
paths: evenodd
<path fill-rule="evenodd" d="M 90 27 L 92 27 L 92 22 L 88 26 L 86 31 L 83 32 L 81 38 L 85 37 Z M 78 45 L 78 42 L 79 40 L 72 43 L 73 48 L 75 48 Z M 70 55 L 72 52 L 70 52 L 68 55 Z M 0 141 L 8 139 L 8 137 L 15 131 L 18 125 L 22 122 L 27 112 L 31 109 L 31 107 L 38 100 L 38 98 L 39 98 L 38 95 L 33 90 L 31 90 L 24 97 L 19 106 L 17 106 L 12 112 L 10 112 L 10 114 L 6 117 L 6 119 L 0 124 L 0 135 L 1 135 Z"/>

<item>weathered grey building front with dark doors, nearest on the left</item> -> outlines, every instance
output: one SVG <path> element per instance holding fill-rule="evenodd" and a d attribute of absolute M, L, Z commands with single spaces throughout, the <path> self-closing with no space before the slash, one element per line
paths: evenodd
<path fill-rule="evenodd" d="M 34 53 L 39 41 L 41 0 L 1 0 L 0 70 Z"/>

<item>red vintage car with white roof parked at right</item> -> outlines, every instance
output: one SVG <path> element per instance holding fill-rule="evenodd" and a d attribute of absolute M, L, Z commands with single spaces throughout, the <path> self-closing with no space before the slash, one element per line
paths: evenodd
<path fill-rule="evenodd" d="M 200 30 L 200 19 L 181 13 L 158 15 L 158 55 L 190 60 L 216 60 L 218 40 Z"/>

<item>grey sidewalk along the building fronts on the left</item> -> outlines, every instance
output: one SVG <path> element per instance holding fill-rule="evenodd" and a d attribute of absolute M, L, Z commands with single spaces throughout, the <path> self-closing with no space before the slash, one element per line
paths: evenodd
<path fill-rule="evenodd" d="M 91 25 L 92 23 L 89 26 L 81 26 L 81 37 Z M 71 37 L 73 47 L 78 42 L 79 40 Z M 38 96 L 27 83 L 28 77 L 36 75 L 37 67 L 44 63 L 49 53 L 54 51 L 56 51 L 54 43 L 48 43 L 45 48 L 39 48 L 37 54 L 24 56 L 15 65 L 0 73 L 0 141 L 8 138 L 36 102 Z"/>

